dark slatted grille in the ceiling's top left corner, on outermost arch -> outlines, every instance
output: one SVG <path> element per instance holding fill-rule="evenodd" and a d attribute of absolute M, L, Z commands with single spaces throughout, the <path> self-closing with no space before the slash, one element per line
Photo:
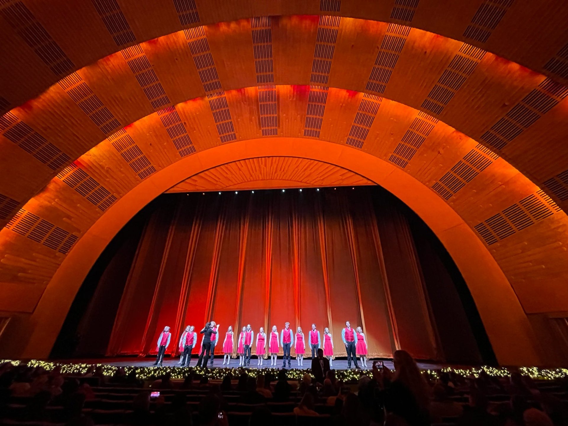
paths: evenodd
<path fill-rule="evenodd" d="M 59 44 L 51 38 L 23 2 L 17 1 L 4 7 L 0 10 L 0 14 L 22 37 L 22 40 L 33 49 L 39 59 L 52 70 L 53 74 L 56 76 L 65 75 L 75 68 L 75 65 L 61 50 Z"/>

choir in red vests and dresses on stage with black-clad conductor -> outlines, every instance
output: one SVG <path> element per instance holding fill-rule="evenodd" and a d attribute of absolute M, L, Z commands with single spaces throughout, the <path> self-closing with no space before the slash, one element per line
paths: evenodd
<path fill-rule="evenodd" d="M 210 321 L 203 327 L 200 334 L 203 334 L 201 340 L 201 346 L 199 349 L 199 358 L 197 361 L 198 367 L 207 367 L 207 362 L 211 355 L 211 366 L 213 365 L 213 357 L 215 352 L 215 346 L 218 342 L 218 329 L 220 326 L 215 323 L 215 321 Z M 185 331 L 179 338 L 179 352 L 181 358 L 178 365 L 189 366 L 191 361 L 191 352 L 197 343 L 197 333 L 194 331 L 195 327 L 193 325 L 188 325 Z M 248 367 L 250 366 L 250 356 L 252 352 L 254 332 L 250 328 L 250 324 L 247 327 L 243 327 L 239 335 L 239 340 L 237 341 L 237 354 L 239 354 L 239 366 Z M 329 333 L 329 328 L 325 328 L 323 332 L 323 353 L 324 356 L 328 358 L 329 365 L 332 366 L 333 358 L 333 339 Z M 156 362 L 153 365 L 162 365 L 164 360 L 164 353 L 170 344 L 170 339 L 172 334 L 170 333 L 169 327 L 164 327 L 164 331 L 161 332 L 160 337 L 158 337 L 157 351 L 158 356 Z M 356 369 L 359 368 L 357 364 L 357 356 L 360 357 L 362 366 L 367 366 L 367 341 L 365 339 L 365 334 L 363 333 L 361 327 L 357 329 L 351 328 L 349 321 L 346 321 L 345 328 L 341 330 L 341 340 L 345 344 L 345 349 L 347 350 L 347 365 L 348 368 L 351 367 L 351 361 L 354 361 L 354 366 Z M 229 365 L 231 361 L 231 356 L 233 354 L 233 349 L 235 345 L 235 334 L 233 333 L 233 328 L 229 325 L 227 332 L 225 333 L 225 339 L 223 340 L 223 365 Z M 270 356 L 270 365 L 274 366 L 277 364 L 277 354 L 279 348 L 282 346 L 283 364 L 282 367 L 286 367 L 286 361 L 288 362 L 288 367 L 291 367 L 290 358 L 290 348 L 294 348 L 296 352 L 296 361 L 298 366 L 303 366 L 304 354 L 306 354 L 307 346 L 311 349 L 311 358 L 315 358 L 318 349 L 321 346 L 320 332 L 316 329 L 316 325 L 312 324 L 312 329 L 308 332 L 308 340 L 306 341 L 304 333 L 302 332 L 302 327 L 296 329 L 294 333 L 290 329 L 290 323 L 286 323 L 284 328 L 281 330 L 278 336 L 277 328 L 274 325 L 269 336 L 266 336 L 264 328 L 260 328 L 254 339 L 254 354 L 258 358 L 258 366 L 264 364 L 265 354 Z"/>

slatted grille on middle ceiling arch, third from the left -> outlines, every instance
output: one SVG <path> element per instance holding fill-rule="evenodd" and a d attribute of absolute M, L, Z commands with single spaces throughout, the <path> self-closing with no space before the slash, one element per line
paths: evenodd
<path fill-rule="evenodd" d="M 69 74 L 59 81 L 59 85 L 103 133 L 108 135 L 120 127 L 119 121 L 79 74 Z"/>

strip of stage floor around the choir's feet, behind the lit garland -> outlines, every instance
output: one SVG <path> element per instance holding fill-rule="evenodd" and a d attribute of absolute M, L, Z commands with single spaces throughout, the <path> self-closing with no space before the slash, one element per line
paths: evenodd
<path fill-rule="evenodd" d="M 57 360 L 56 362 L 61 362 L 62 364 L 107 364 L 107 365 L 114 365 L 118 367 L 150 367 L 156 361 L 155 357 L 119 357 L 119 358 L 93 358 L 93 359 L 71 359 L 71 360 Z M 179 358 L 165 358 L 163 365 L 168 367 L 176 367 L 177 362 L 179 362 Z M 357 360 L 357 362 L 359 362 Z M 394 366 L 392 365 L 391 360 L 384 360 L 384 364 L 389 367 L 389 369 L 393 369 Z M 256 357 L 250 358 L 250 366 L 249 368 L 282 368 L 282 358 L 278 358 L 277 364 L 275 366 L 270 365 L 270 360 L 264 360 L 264 364 L 259 366 L 257 365 L 258 360 Z M 194 367 L 197 364 L 197 357 L 191 358 L 190 367 Z M 303 366 L 298 366 L 298 363 L 295 359 L 291 361 L 291 368 L 293 369 L 310 369 L 311 367 L 311 360 L 310 358 L 304 358 Z M 442 367 L 447 366 L 447 364 L 436 364 L 434 362 L 418 362 L 417 363 L 420 369 L 422 370 L 439 370 Z M 361 365 L 360 365 L 361 366 Z M 367 370 L 370 370 L 373 366 L 373 361 L 367 360 Z M 215 358 L 213 363 L 213 368 L 226 368 L 227 365 L 223 365 L 223 358 Z M 231 358 L 231 363 L 228 365 L 229 368 L 239 368 L 239 360 Z M 454 366 L 455 367 L 455 366 Z M 210 364 L 211 368 L 211 364 Z M 288 367 L 286 367 L 288 368 Z M 351 368 L 354 369 L 354 364 L 351 364 Z M 364 367 L 362 367 L 364 369 Z M 332 369 L 335 370 L 346 370 L 347 369 L 347 360 L 333 360 Z"/>

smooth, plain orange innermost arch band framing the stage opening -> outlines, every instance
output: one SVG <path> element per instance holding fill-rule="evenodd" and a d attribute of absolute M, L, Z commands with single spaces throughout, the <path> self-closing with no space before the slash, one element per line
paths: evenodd
<path fill-rule="evenodd" d="M 27 324 L 23 358 L 47 357 L 74 296 L 116 232 L 152 199 L 204 170 L 256 157 L 299 157 L 328 162 L 385 187 L 412 208 L 446 247 L 473 296 L 500 364 L 540 364 L 532 329 L 511 285 L 491 253 L 463 219 L 428 187 L 390 163 L 345 145 L 293 137 L 251 139 L 183 158 L 154 173 L 114 203 L 81 237 L 57 270 Z M 12 339 L 14 341 L 16 339 Z M 10 341 L 9 344 L 12 344 Z"/>

